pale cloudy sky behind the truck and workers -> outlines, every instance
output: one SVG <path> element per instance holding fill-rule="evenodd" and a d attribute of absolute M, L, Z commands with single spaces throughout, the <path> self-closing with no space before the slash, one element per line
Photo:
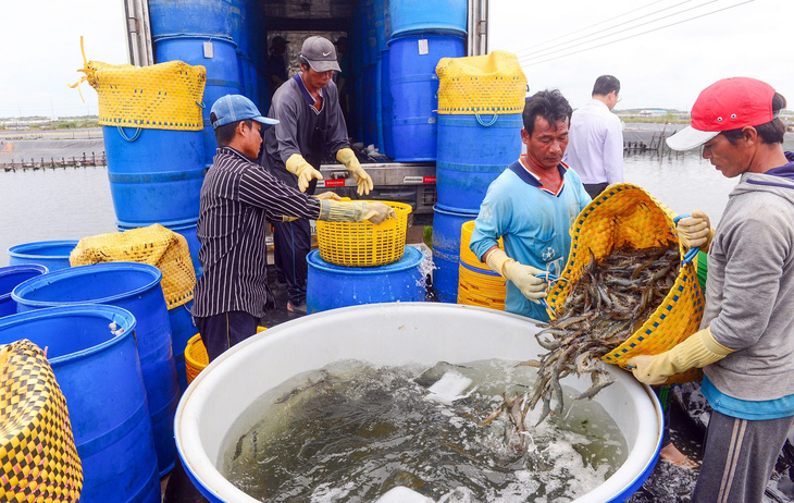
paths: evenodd
<path fill-rule="evenodd" d="M 89 60 L 126 62 L 123 0 L 3 3 L 0 116 L 97 113 L 90 86 L 82 86 L 84 103 L 67 84 L 82 75 L 80 35 Z M 574 107 L 601 74 L 621 81 L 619 109 L 688 109 L 704 87 L 736 75 L 766 81 L 794 103 L 789 0 L 491 0 L 491 50 L 516 52 L 531 90 L 559 88 Z"/>

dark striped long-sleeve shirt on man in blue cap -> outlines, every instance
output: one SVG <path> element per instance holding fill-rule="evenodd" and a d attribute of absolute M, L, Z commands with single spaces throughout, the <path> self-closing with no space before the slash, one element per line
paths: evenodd
<path fill-rule="evenodd" d="M 197 235 L 204 269 L 194 294 L 193 315 L 264 314 L 268 299 L 268 219 L 317 219 L 320 201 L 276 180 L 231 147 L 221 147 L 201 186 Z"/>

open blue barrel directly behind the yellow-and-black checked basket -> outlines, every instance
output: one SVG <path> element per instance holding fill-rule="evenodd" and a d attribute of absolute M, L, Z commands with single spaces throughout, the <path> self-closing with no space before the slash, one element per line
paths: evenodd
<path fill-rule="evenodd" d="M 134 328 L 135 317 L 115 306 L 61 306 L 0 318 L 0 344 L 27 339 L 47 348 L 83 464 L 80 503 L 160 503 Z"/>

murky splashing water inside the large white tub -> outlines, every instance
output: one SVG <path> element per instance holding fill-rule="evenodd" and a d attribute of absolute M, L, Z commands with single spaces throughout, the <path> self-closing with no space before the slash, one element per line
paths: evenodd
<path fill-rule="evenodd" d="M 404 486 L 437 502 L 565 502 L 625 461 L 617 426 L 566 390 L 562 417 L 519 434 L 501 415 L 534 369 L 483 360 L 375 367 L 339 361 L 266 392 L 231 429 L 219 463 L 263 502 L 371 502 Z M 553 404 L 554 407 L 554 404 Z"/>

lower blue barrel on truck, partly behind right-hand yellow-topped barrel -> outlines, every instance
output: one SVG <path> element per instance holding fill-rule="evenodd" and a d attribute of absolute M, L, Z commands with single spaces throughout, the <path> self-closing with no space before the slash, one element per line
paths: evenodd
<path fill-rule="evenodd" d="M 435 161 L 438 108 L 435 68 L 442 58 L 463 56 L 463 39 L 459 37 L 420 35 L 389 41 L 395 161 Z"/>

